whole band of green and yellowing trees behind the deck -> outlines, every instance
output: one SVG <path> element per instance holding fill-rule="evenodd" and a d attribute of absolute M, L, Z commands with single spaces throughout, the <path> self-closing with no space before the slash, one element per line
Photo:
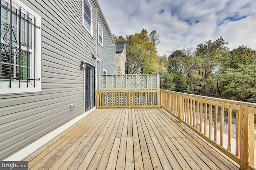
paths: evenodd
<path fill-rule="evenodd" d="M 162 89 L 256 103 L 256 51 L 227 47 L 223 37 L 157 55 L 157 31 L 115 36 L 126 42 L 126 74 L 160 74 Z"/>

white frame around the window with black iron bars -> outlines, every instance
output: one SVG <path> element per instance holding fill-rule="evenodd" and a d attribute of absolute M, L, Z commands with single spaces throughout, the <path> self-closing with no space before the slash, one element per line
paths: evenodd
<path fill-rule="evenodd" d="M 4 0 L 5 2 L 8 2 L 10 4 L 10 1 Z M 23 4 L 20 0 L 12 0 L 12 6 L 15 7 L 16 9 L 19 9 L 19 7 L 22 8 L 23 12 L 28 12 L 30 14 L 30 17 L 35 17 L 36 18 L 36 23 L 34 23 L 34 20 L 32 20 L 33 24 L 40 28 L 36 28 L 36 34 L 34 35 L 34 26 L 32 26 L 32 48 L 34 48 L 34 36 L 36 36 L 36 49 L 35 49 L 35 56 L 36 56 L 36 62 L 35 65 L 36 67 L 34 68 L 34 52 L 32 52 L 32 57 L 30 57 L 30 70 L 29 70 L 29 79 L 32 79 L 34 77 L 34 69 L 35 70 L 35 78 L 39 79 L 35 81 L 30 80 L 28 83 L 27 87 L 27 82 L 20 82 L 20 87 L 19 87 L 19 82 L 13 82 L 12 81 L 12 86 L 11 88 L 9 87 L 9 81 L 6 82 L 0 82 L 0 94 L 18 94 L 18 93 L 30 93 L 30 92 L 41 92 L 41 59 L 42 59 L 42 18 L 36 12 L 31 10 L 28 6 Z M 31 16 L 32 15 L 32 16 Z M 2 40 L 1 40 L 2 42 Z M 34 49 L 29 51 L 33 51 Z"/>

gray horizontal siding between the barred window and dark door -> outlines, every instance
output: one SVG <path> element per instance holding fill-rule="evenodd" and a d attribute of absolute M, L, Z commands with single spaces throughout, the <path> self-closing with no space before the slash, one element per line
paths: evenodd
<path fill-rule="evenodd" d="M 0 160 L 84 113 L 84 71 L 96 65 L 96 6 L 93 37 L 82 25 L 82 0 L 22 0 L 42 17 L 42 92 L 0 96 Z M 75 109 L 69 111 L 69 105 Z"/>

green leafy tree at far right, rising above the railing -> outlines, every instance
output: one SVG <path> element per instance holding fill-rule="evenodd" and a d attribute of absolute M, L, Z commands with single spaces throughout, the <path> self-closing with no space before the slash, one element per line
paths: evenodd
<path fill-rule="evenodd" d="M 256 102 L 256 51 L 243 45 L 230 51 L 218 84 L 224 98 Z"/>

